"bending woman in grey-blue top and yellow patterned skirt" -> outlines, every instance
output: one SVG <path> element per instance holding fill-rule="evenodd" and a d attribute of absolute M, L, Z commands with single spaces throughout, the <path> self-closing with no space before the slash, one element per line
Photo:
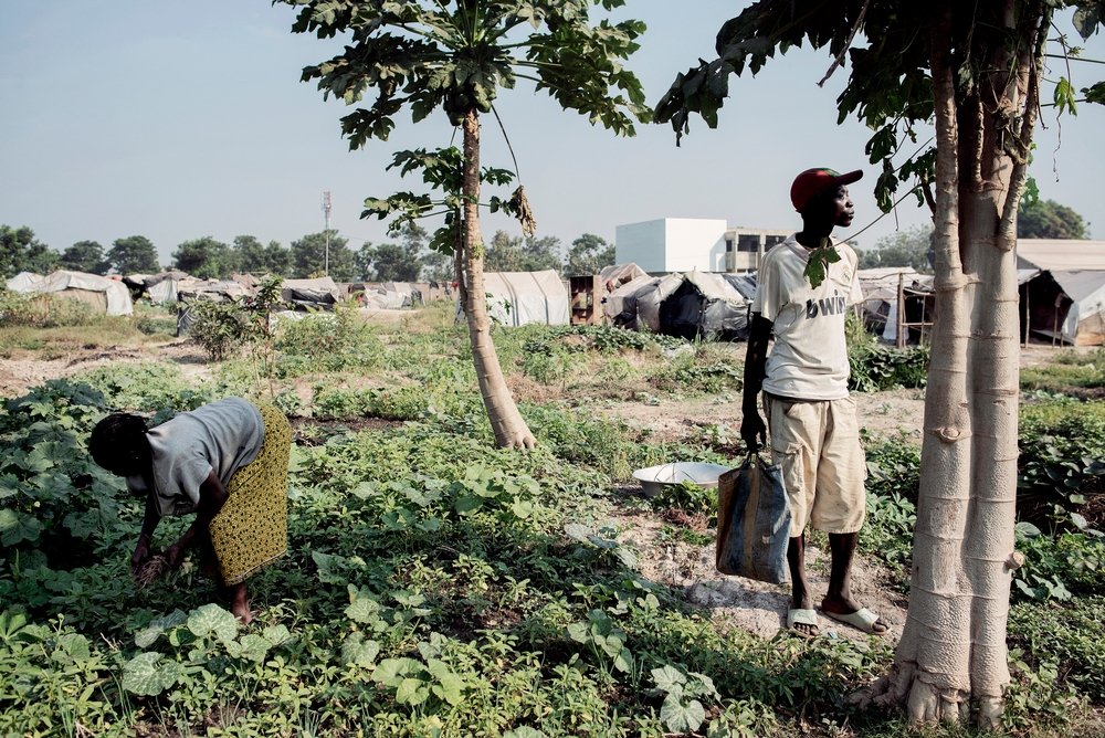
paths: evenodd
<path fill-rule="evenodd" d="M 185 550 L 198 546 L 202 568 L 221 582 L 243 623 L 253 619 L 245 579 L 287 550 L 291 445 L 291 426 L 278 410 L 241 398 L 182 412 L 152 429 L 138 415 L 115 413 L 88 440 L 95 462 L 146 498 L 131 568 L 149 558 L 162 516 L 194 513 L 166 559 L 176 568 Z"/>

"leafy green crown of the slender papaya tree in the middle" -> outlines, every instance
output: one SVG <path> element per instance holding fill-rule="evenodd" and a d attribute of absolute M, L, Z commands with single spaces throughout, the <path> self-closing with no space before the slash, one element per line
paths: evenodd
<path fill-rule="evenodd" d="M 650 118 L 640 81 L 621 66 L 638 49 L 644 24 L 603 20 L 591 27 L 588 10 L 596 0 L 276 1 L 301 7 L 297 33 L 351 34 L 340 54 L 305 67 L 302 76 L 347 105 L 375 93 L 369 105 L 341 119 L 350 149 L 369 138 L 386 140 L 404 107 L 415 123 L 439 107 L 453 125 L 470 109 L 490 113 L 499 88 L 514 88 L 519 78 L 619 135 L 633 135 L 633 118 Z M 601 0 L 607 10 L 622 4 Z"/>

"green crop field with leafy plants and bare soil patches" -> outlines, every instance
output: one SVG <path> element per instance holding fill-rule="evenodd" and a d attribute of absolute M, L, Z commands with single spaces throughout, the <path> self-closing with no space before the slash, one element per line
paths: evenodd
<path fill-rule="evenodd" d="M 339 307 L 221 347 L 172 329 L 149 307 L 0 309 L 0 736 L 906 730 L 846 697 L 888 667 L 904 622 L 924 349 L 852 336 L 869 464 L 855 589 L 892 633 L 822 619 L 802 640 L 779 631 L 787 587 L 712 571 L 711 491 L 645 497 L 632 479 L 739 462 L 741 344 L 496 327 L 539 442 L 523 452 L 494 447 L 451 304 Z M 1031 356 L 1006 734 L 1103 735 L 1105 351 Z M 136 588 L 143 503 L 86 452 L 109 411 L 166 419 L 228 394 L 274 401 L 295 433 L 288 555 L 250 580 L 248 626 L 192 560 Z"/>

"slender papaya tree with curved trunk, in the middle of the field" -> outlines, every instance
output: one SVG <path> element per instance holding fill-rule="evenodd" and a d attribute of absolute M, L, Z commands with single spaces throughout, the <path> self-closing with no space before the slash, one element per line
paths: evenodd
<path fill-rule="evenodd" d="M 432 244 L 452 251 L 462 274 L 461 296 L 469 337 L 496 442 L 532 447 L 534 436 L 518 412 L 491 338 L 484 289 L 484 244 L 480 228 L 481 116 L 493 112 L 499 91 L 519 80 L 547 92 L 619 135 L 633 134 L 633 120 L 648 119 L 638 78 L 622 61 L 638 49 L 644 24 L 628 20 L 592 23 L 600 6 L 609 11 L 624 0 L 274 0 L 296 6 L 293 32 L 319 39 L 341 36 L 344 49 L 303 71 L 326 95 L 356 109 L 341 118 L 351 149 L 370 138 L 387 139 L 396 116 L 413 123 L 444 114 L 462 131 L 459 192 L 449 219 Z M 366 95 L 370 99 L 366 101 Z M 411 152 L 408 152 L 411 154 Z M 423 151 L 424 154 L 424 151 Z M 417 161 L 420 157 L 409 157 Z M 528 205 L 518 191 L 506 203 L 519 215 Z M 366 201 L 365 215 L 397 211 L 402 218 L 429 215 L 428 196 Z M 532 224 L 524 219 L 524 226 Z"/>

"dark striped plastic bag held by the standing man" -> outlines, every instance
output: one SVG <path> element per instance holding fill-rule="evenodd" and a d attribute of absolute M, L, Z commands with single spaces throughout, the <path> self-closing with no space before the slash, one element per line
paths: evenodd
<path fill-rule="evenodd" d="M 787 583 L 789 542 L 790 504 L 782 468 L 748 454 L 744 464 L 717 481 L 717 570 Z"/>

